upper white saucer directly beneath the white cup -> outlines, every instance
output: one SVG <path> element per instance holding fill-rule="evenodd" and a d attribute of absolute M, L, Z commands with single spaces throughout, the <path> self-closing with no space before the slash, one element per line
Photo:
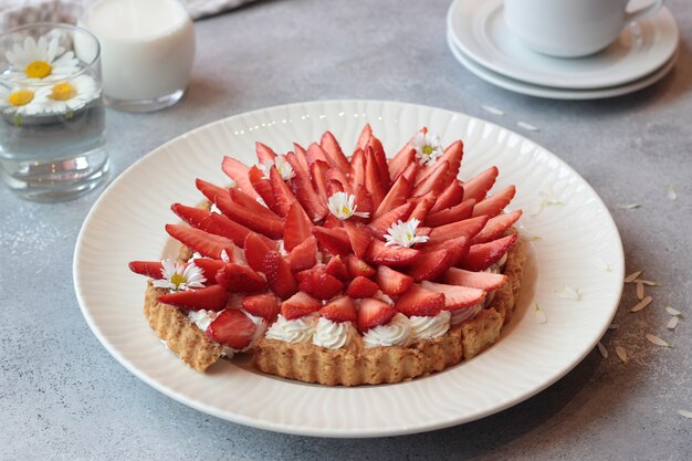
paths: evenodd
<path fill-rule="evenodd" d="M 531 50 L 506 28 L 503 0 L 455 0 L 447 14 L 457 46 L 478 64 L 524 83 L 568 90 L 596 90 L 642 78 L 671 60 L 678 25 L 662 8 L 632 22 L 600 53 L 559 59 Z"/>

